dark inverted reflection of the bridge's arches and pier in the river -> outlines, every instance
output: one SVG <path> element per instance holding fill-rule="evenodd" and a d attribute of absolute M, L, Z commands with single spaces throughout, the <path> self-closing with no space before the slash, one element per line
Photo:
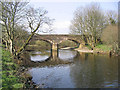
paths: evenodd
<path fill-rule="evenodd" d="M 58 51 L 56 50 L 52 51 L 52 54 L 50 55 L 50 57 L 48 57 L 44 61 L 31 61 L 29 54 L 24 54 L 24 55 L 26 59 L 24 59 L 23 64 L 26 67 L 56 66 L 60 64 L 72 64 L 74 63 L 74 61 L 80 60 L 81 58 L 80 53 L 77 51 L 74 57 L 66 59 L 66 60 L 60 59 L 58 56 Z"/>

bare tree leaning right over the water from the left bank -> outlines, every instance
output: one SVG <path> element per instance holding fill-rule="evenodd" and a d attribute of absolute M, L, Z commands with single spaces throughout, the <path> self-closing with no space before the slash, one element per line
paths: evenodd
<path fill-rule="evenodd" d="M 21 52 L 25 50 L 26 46 L 30 43 L 30 40 L 37 31 L 44 32 L 43 27 L 45 25 L 47 25 L 49 27 L 48 30 L 51 31 L 50 27 L 53 20 L 46 16 L 47 13 L 48 12 L 46 10 L 41 8 L 34 9 L 32 7 L 29 7 L 26 10 L 26 23 L 29 25 L 31 33 L 23 46 L 17 51 L 16 55 L 21 54 Z"/>

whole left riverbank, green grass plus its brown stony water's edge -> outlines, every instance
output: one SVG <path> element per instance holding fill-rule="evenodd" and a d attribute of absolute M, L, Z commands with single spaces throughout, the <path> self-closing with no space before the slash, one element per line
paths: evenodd
<path fill-rule="evenodd" d="M 2 89 L 9 88 L 33 88 L 32 77 L 24 75 L 26 70 L 11 58 L 9 51 L 2 49 Z"/>

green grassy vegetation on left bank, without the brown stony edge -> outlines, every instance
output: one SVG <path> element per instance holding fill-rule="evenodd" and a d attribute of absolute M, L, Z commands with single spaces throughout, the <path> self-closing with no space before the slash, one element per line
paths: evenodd
<path fill-rule="evenodd" d="M 18 65 L 11 59 L 10 52 L 2 50 L 2 88 L 22 88 L 22 78 L 17 75 Z"/>

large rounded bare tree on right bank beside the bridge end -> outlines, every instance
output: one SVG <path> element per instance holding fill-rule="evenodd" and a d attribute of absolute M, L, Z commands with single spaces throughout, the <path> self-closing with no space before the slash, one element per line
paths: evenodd
<path fill-rule="evenodd" d="M 90 4 L 75 11 L 70 30 L 71 33 L 80 34 L 83 40 L 85 38 L 87 43 L 94 47 L 100 40 L 105 26 L 105 16 L 100 6 L 98 4 Z"/>

